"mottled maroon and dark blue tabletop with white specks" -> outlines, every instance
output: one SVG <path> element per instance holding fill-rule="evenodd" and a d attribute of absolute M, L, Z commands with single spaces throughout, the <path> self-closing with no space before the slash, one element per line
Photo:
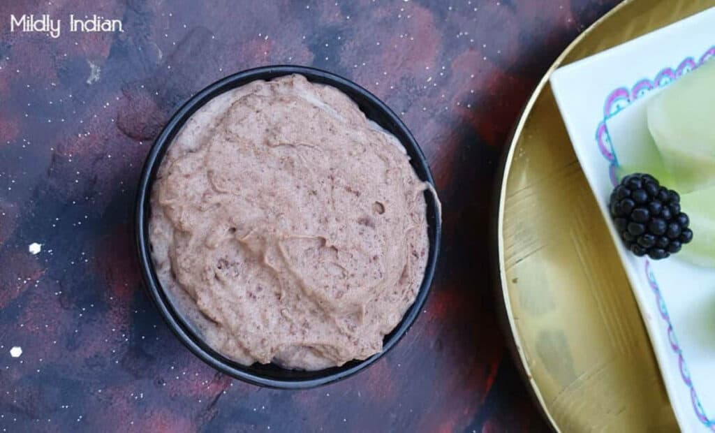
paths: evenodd
<path fill-rule="evenodd" d="M 545 430 L 497 326 L 491 188 L 541 74 L 616 2 L 1 1 L 0 429 Z M 124 33 L 9 31 L 31 13 L 118 17 Z M 144 293 L 132 243 L 139 170 L 172 111 L 226 74 L 284 63 L 342 74 L 400 113 L 444 205 L 425 313 L 370 369 L 308 391 L 193 356 Z"/>

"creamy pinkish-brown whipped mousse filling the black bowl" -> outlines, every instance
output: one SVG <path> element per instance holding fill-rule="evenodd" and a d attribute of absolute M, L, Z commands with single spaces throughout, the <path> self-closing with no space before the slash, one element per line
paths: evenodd
<path fill-rule="evenodd" d="M 240 364 L 368 358 L 423 280 L 426 187 L 397 138 L 334 87 L 251 82 L 192 115 L 159 167 L 159 281 Z"/>

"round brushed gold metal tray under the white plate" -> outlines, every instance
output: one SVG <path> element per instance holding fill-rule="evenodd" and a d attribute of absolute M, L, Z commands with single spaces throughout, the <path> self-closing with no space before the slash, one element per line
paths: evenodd
<path fill-rule="evenodd" d="M 501 184 L 499 272 L 508 326 L 536 399 L 563 432 L 674 432 L 638 306 L 581 172 L 548 79 L 715 0 L 624 1 L 583 32 L 526 105 Z"/>

